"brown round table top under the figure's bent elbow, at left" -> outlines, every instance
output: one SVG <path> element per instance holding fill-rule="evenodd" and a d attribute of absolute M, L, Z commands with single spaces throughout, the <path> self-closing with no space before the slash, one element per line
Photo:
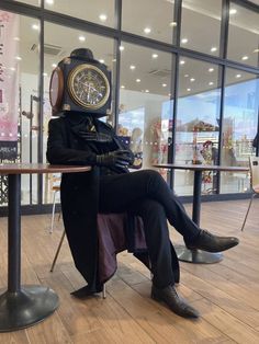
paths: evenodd
<path fill-rule="evenodd" d="M 65 165 L 49 163 L 0 163 L 0 174 L 33 174 L 33 173 L 76 173 L 90 171 L 91 167 Z"/>

